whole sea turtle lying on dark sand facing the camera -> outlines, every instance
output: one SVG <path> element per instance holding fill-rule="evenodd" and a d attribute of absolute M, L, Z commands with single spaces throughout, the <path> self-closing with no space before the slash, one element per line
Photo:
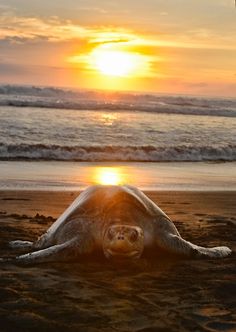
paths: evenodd
<path fill-rule="evenodd" d="M 128 185 L 87 188 L 36 242 L 10 245 L 31 248 L 12 260 L 23 264 L 69 261 L 96 252 L 111 259 L 137 259 L 148 248 L 186 257 L 231 253 L 228 247 L 204 248 L 184 240 L 153 201 Z"/>

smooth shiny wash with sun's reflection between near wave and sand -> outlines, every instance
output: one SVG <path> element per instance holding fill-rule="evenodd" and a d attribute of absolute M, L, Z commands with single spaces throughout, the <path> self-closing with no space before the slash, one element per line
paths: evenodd
<path fill-rule="evenodd" d="M 108 173 L 141 190 L 235 191 L 235 169 L 236 162 L 0 161 L 0 190 L 78 191 L 108 184 Z"/>

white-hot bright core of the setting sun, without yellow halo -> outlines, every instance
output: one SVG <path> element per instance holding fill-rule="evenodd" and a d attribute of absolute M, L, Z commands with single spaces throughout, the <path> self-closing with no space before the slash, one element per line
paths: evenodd
<path fill-rule="evenodd" d="M 102 75 L 116 77 L 135 76 L 144 65 L 139 54 L 102 47 L 90 54 L 89 62 Z"/>

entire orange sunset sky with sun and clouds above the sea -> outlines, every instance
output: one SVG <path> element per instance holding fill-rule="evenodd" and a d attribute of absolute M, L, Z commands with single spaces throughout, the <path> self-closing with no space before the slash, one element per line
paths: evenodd
<path fill-rule="evenodd" d="M 236 96 L 233 0 L 0 0 L 0 84 Z"/>

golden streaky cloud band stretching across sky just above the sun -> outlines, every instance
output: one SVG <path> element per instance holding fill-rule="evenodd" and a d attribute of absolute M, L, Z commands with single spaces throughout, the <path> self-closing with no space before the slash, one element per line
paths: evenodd
<path fill-rule="evenodd" d="M 49 19 L 23 17 L 3 12 L 0 16 L 1 40 L 47 40 L 64 42 L 84 40 L 88 44 L 119 43 L 147 47 L 180 48 L 223 48 L 236 49 L 229 36 L 215 35 L 214 31 L 199 29 L 193 31 L 165 33 L 137 33 L 128 28 L 114 26 L 83 26 L 56 16 Z"/>

